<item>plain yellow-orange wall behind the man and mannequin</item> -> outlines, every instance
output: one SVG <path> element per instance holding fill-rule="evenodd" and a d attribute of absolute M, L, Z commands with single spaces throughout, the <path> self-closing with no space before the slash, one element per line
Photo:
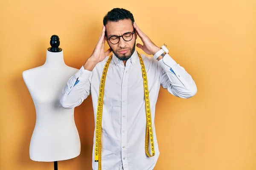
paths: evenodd
<path fill-rule="evenodd" d="M 0 170 L 53 170 L 29 159 L 36 117 L 22 71 L 44 64 L 52 34 L 66 64 L 80 68 L 115 7 L 130 10 L 155 44 L 166 43 L 198 87 L 191 99 L 160 90 L 155 170 L 255 170 L 255 0 L 1 0 Z M 91 97 L 75 121 L 81 154 L 59 161 L 59 170 L 91 170 Z"/>

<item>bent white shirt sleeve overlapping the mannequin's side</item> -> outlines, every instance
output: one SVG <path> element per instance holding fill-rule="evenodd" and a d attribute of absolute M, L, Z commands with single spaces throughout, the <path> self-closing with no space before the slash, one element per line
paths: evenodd
<path fill-rule="evenodd" d="M 74 76 L 70 77 L 60 98 L 63 108 L 75 108 L 90 95 L 91 76 L 92 71 L 85 70 L 82 66 Z"/>

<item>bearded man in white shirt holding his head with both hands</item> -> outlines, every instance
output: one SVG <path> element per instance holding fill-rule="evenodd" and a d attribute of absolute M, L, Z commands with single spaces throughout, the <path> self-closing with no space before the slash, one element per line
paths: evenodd
<path fill-rule="evenodd" d="M 114 8 L 105 15 L 103 24 L 92 55 L 64 87 L 61 105 L 74 108 L 92 95 L 96 125 L 93 170 L 153 170 L 160 153 L 154 127 L 160 86 L 181 98 L 194 96 L 197 87 L 185 69 L 167 54 L 168 49 L 157 47 L 140 30 L 130 11 Z M 143 42 L 137 47 L 154 57 L 137 53 L 137 36 Z M 107 51 L 104 51 L 105 41 L 110 46 Z M 108 56 L 111 51 L 112 58 Z M 108 62 L 108 68 L 104 69 Z M 102 119 L 99 119 L 101 106 Z M 146 136 L 149 136 L 148 147 L 145 147 Z"/>

